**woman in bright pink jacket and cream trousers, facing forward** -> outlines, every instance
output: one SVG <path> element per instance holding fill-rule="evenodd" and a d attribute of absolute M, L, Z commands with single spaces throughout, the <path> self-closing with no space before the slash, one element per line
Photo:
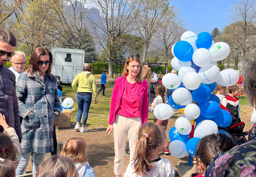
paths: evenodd
<path fill-rule="evenodd" d="M 130 161 L 136 158 L 139 128 L 148 121 L 148 83 L 143 80 L 139 55 L 130 55 L 113 89 L 106 133 L 114 130 L 116 177 L 124 173 L 124 146 L 130 142 Z"/>

